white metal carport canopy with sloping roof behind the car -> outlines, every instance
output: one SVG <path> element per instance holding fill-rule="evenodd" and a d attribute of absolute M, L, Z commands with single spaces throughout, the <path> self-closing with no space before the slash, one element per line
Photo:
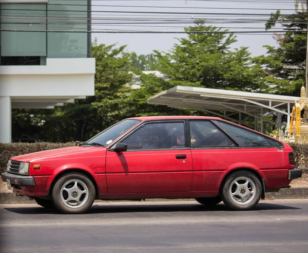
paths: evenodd
<path fill-rule="evenodd" d="M 263 121 L 265 113 L 275 111 L 278 112 L 278 115 L 287 115 L 287 124 L 290 124 L 291 106 L 298 100 L 299 97 L 291 96 L 175 86 L 148 98 L 147 101 L 150 104 L 202 110 L 226 119 L 232 119 L 229 116 L 239 113 L 239 122 L 241 122 L 241 114 L 253 116 Z M 224 113 L 220 114 L 217 111 Z"/>

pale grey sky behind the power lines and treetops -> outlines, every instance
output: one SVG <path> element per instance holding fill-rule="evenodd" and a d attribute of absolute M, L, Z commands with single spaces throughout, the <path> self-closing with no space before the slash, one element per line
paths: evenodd
<path fill-rule="evenodd" d="M 262 2 L 262 3 L 260 3 Z M 292 14 L 295 13 L 294 1 L 292 0 L 250 0 L 241 1 L 236 0 L 229 0 L 229 1 L 191 1 L 191 0 L 180 0 L 180 1 L 134 1 L 134 0 L 126 0 L 126 1 L 93 1 L 92 5 L 117 5 L 117 6 L 143 6 L 138 8 L 133 7 L 107 7 L 107 6 L 93 6 L 92 10 L 98 11 L 155 11 L 155 12 L 199 12 L 199 13 L 252 13 L 252 14 L 270 14 L 271 12 L 275 12 L 277 9 L 281 9 L 282 14 Z M 156 8 L 147 8 L 146 6 L 153 6 Z M 164 8 L 163 8 L 164 7 Z M 165 8 L 165 7 L 173 7 L 173 8 Z M 176 7 L 182 7 L 177 9 Z M 184 7 L 184 8 L 183 8 Z M 187 8 L 188 7 L 188 8 Z M 197 7 L 197 9 L 192 9 L 191 7 Z M 203 9 L 201 9 L 203 8 Z M 204 9 L 204 8 L 234 8 L 234 9 Z M 248 10 L 241 10 L 239 8 L 248 8 Z M 255 10 L 257 8 L 261 9 L 268 9 L 268 10 Z M 282 10 L 286 9 L 286 10 Z M 119 14 L 110 14 L 107 13 L 109 16 L 113 15 L 112 17 L 119 17 L 122 18 L 124 15 L 128 15 L 126 13 L 119 13 Z M 92 13 L 92 17 L 95 13 Z M 131 14 L 140 15 L 140 14 Z M 168 14 L 166 14 L 167 17 Z M 182 14 L 181 14 L 182 15 Z M 164 16 L 162 14 L 161 16 Z M 136 16 L 135 16 L 136 17 Z M 187 19 L 196 19 L 198 15 L 187 14 L 185 15 Z M 221 16 L 220 16 L 221 17 Z M 263 17 L 264 19 L 268 19 L 269 16 Z M 225 17 L 223 17 L 225 18 Z M 264 22 L 265 23 L 265 22 Z M 260 28 L 260 30 L 265 30 L 265 24 L 215 24 L 217 27 L 234 27 L 237 31 L 247 31 L 253 30 L 251 28 Z M 158 28 L 163 31 L 168 30 L 177 30 L 183 31 L 183 25 L 179 25 L 179 28 Z M 242 27 L 249 27 L 250 29 L 240 29 Z M 123 27 L 123 26 L 92 26 L 92 29 L 100 28 L 100 29 L 134 29 L 136 27 Z M 148 28 L 137 28 L 137 29 L 148 29 Z M 153 28 L 150 28 L 153 29 Z M 278 29 L 278 28 L 277 28 Z M 277 30 L 276 29 L 276 30 Z M 274 30 L 274 29 L 273 29 Z M 118 46 L 127 45 L 128 51 L 134 51 L 137 55 L 140 54 L 149 54 L 152 53 L 153 50 L 160 50 L 160 51 L 168 51 L 169 49 L 174 46 L 175 43 L 178 41 L 175 38 L 184 37 L 185 34 L 129 34 L 129 33 L 92 33 L 92 39 L 97 38 L 98 43 L 101 44 L 114 44 L 117 43 Z M 252 53 L 253 56 L 259 56 L 266 53 L 266 49 L 263 48 L 263 45 L 276 45 L 275 40 L 273 39 L 272 34 L 238 34 L 237 35 L 238 42 L 234 44 L 235 48 L 239 48 L 241 46 L 248 47 L 249 51 Z"/>

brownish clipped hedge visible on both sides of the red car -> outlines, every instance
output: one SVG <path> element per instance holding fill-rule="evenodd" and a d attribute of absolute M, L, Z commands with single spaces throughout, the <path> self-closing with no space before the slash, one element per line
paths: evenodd
<path fill-rule="evenodd" d="M 308 172 L 308 144 L 290 143 L 294 150 L 296 167 L 305 169 Z M 0 143 L 0 172 L 6 170 L 9 158 L 17 155 L 28 154 L 43 150 L 60 149 L 74 146 L 74 142 L 68 143 Z"/>

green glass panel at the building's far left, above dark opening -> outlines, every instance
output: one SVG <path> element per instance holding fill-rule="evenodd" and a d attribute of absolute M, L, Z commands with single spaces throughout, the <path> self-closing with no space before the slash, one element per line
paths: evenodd
<path fill-rule="evenodd" d="M 1 56 L 46 56 L 46 4 L 2 4 Z M 12 18 L 13 17 L 13 18 Z"/>

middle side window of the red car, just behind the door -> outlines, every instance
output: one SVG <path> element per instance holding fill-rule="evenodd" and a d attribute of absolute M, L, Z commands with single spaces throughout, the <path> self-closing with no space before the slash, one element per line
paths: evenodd
<path fill-rule="evenodd" d="M 235 143 L 205 120 L 189 121 L 191 147 L 233 147 Z"/>

